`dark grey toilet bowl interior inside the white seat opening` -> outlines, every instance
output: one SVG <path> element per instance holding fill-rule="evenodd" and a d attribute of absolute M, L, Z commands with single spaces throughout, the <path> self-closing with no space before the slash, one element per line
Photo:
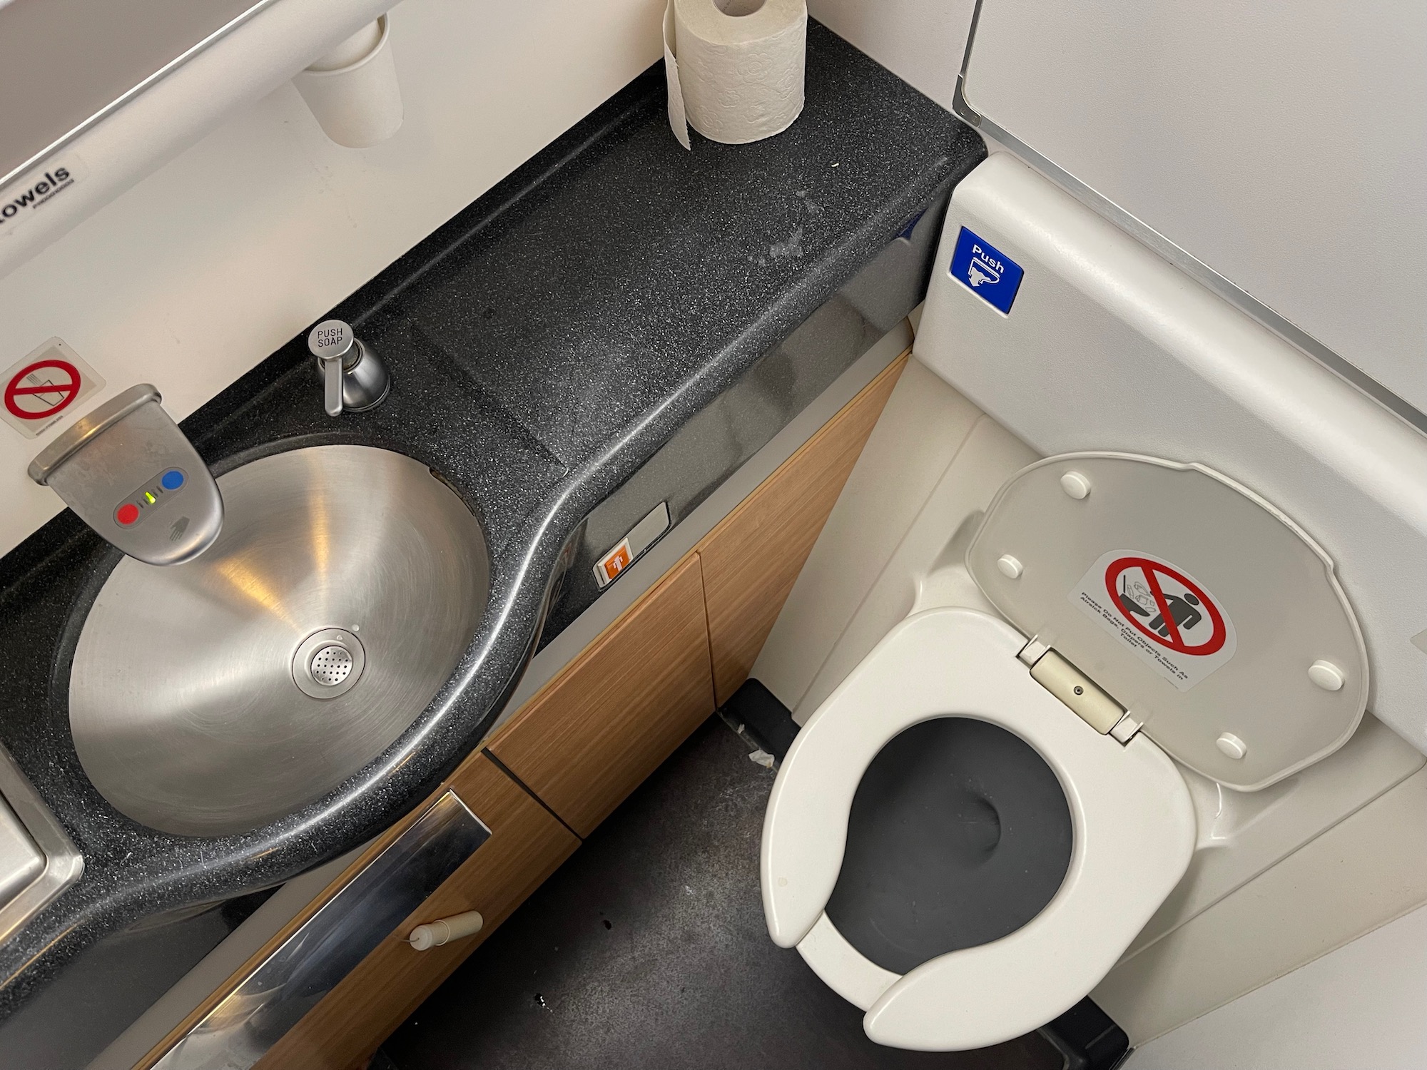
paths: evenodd
<path fill-rule="evenodd" d="M 1035 748 L 985 720 L 923 720 L 863 773 L 826 913 L 863 956 L 906 973 L 1039 914 L 1072 842 L 1065 792 Z"/>

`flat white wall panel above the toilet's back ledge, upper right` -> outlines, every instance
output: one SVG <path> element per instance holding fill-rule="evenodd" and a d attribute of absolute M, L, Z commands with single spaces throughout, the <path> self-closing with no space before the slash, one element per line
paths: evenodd
<path fill-rule="evenodd" d="M 1427 4 L 985 0 L 968 103 L 1427 409 Z"/>

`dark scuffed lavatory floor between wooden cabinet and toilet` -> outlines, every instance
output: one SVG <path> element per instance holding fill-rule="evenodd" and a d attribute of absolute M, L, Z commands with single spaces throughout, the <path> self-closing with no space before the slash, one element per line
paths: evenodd
<path fill-rule="evenodd" d="M 669 758 L 384 1046 L 398 1070 L 1059 1070 L 1036 1034 L 879 1047 L 768 939 L 758 840 L 773 772 L 718 716 Z"/>

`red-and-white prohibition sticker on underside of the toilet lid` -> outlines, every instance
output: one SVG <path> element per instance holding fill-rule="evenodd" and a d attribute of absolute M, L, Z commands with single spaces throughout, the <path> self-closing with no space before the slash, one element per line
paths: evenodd
<path fill-rule="evenodd" d="M 1100 555 L 1070 601 L 1180 691 L 1234 656 L 1234 625 L 1223 605 L 1153 554 Z"/>

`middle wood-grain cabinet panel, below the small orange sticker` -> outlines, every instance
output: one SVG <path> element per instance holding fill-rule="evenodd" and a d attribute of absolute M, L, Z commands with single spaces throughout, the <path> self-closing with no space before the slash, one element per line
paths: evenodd
<path fill-rule="evenodd" d="M 489 750 L 588 836 L 712 712 L 691 555 L 537 692 Z"/>

